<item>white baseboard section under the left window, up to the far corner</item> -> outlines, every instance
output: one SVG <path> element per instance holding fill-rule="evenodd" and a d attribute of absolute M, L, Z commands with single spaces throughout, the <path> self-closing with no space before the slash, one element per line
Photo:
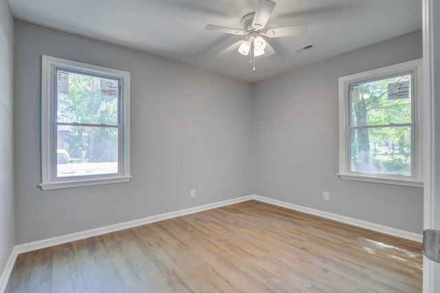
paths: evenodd
<path fill-rule="evenodd" d="M 221 206 L 228 206 L 230 204 L 245 202 L 250 199 L 252 199 L 252 195 L 247 195 L 247 196 L 238 197 L 238 198 L 234 198 L 234 199 L 228 199 L 223 202 L 215 202 L 213 204 L 206 204 L 203 206 L 195 206 L 194 208 L 186 208 L 185 210 L 177 210 L 175 212 L 164 213 L 161 215 L 154 215 L 154 216 L 146 217 L 146 218 L 142 218 L 142 219 L 135 219 L 133 221 L 126 221 L 126 222 L 120 223 L 120 224 L 114 224 L 114 225 L 110 225 L 110 226 L 104 226 L 101 228 L 76 232 L 76 233 L 72 233 L 72 234 L 68 234 L 68 235 L 53 237 L 53 238 L 49 238 L 49 239 L 43 239 L 43 240 L 39 240 L 39 241 L 33 241 L 30 243 L 19 244 L 19 245 L 15 246 L 15 248 L 17 250 L 17 253 L 20 254 L 23 252 L 29 252 L 32 250 L 47 248 L 50 246 L 56 246 L 58 244 L 63 244 L 63 243 L 71 242 L 71 241 L 76 241 L 76 240 L 86 239 L 89 237 L 94 237 L 94 236 L 98 236 L 98 235 L 102 235 L 102 234 L 107 234 L 109 232 L 115 232 L 115 231 L 124 230 L 124 229 L 128 229 L 128 228 L 133 228 L 136 226 L 150 224 L 150 223 L 154 223 L 155 221 L 162 221 L 165 219 L 171 219 L 174 217 L 180 217 L 180 216 L 189 215 L 192 213 L 198 213 L 203 210 L 210 210 L 212 208 L 219 208 Z"/>

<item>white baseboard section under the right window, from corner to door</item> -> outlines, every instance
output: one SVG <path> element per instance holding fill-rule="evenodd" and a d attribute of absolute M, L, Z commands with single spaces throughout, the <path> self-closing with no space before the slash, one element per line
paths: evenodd
<path fill-rule="evenodd" d="M 327 213 L 322 210 L 315 210 L 314 208 L 307 208 L 305 206 L 298 206 L 296 204 L 289 204 L 287 202 L 281 202 L 280 200 L 272 199 L 269 197 L 263 197 L 260 195 L 252 195 L 252 198 L 259 200 L 260 202 L 266 202 L 267 204 L 274 204 L 276 206 L 283 206 L 284 208 L 289 208 L 291 210 L 298 210 L 303 213 L 316 215 L 319 217 L 325 217 L 327 219 L 333 219 L 335 221 L 340 221 L 345 224 L 350 224 L 353 226 L 366 228 L 366 229 L 373 230 L 376 232 L 381 232 L 381 233 L 385 233 L 388 235 L 393 235 L 393 236 L 397 236 L 400 238 L 409 239 L 412 241 L 417 241 L 420 243 L 423 239 L 423 235 L 421 235 L 421 234 L 408 232 L 408 231 L 404 231 L 404 230 L 399 230 L 399 229 L 391 228 L 388 226 L 382 226 L 379 224 L 371 223 L 369 221 L 362 221 L 360 219 L 353 219 L 351 217 L 345 217 L 345 216 L 341 216 L 341 215 Z"/>

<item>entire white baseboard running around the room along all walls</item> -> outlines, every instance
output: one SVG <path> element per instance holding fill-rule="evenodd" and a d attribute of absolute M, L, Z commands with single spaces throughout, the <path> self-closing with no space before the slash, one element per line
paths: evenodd
<path fill-rule="evenodd" d="M 150 223 L 153 223 L 156 221 L 162 221 L 165 219 L 171 219 L 174 217 L 180 217 L 180 216 L 189 215 L 192 213 L 198 213 L 203 210 L 210 210 L 212 208 L 219 208 L 221 206 L 228 206 L 230 204 L 245 202 L 250 199 L 255 199 L 260 202 L 265 202 L 267 204 L 274 204 L 276 206 L 282 206 L 284 208 L 289 208 L 292 210 L 298 210 L 300 212 L 308 213 L 311 215 L 317 215 L 319 217 L 325 217 L 327 219 L 333 219 L 335 221 L 340 221 L 342 223 L 351 224 L 353 226 L 358 226 L 358 227 L 366 228 L 369 230 L 382 232 L 382 233 L 385 233 L 388 235 L 393 235 L 393 236 L 401 237 L 404 239 L 409 239 L 412 241 L 421 242 L 422 238 L 423 238 L 422 235 L 419 235 L 417 233 L 399 230 L 399 229 L 395 229 L 395 228 L 391 228 L 391 227 L 387 227 L 387 226 L 382 226 L 382 225 L 374 224 L 374 223 L 371 223 L 368 221 L 362 221 L 360 219 L 353 219 L 350 217 L 344 217 L 341 215 L 327 213 L 322 210 L 315 210 L 314 208 L 307 208 L 305 206 L 298 206 L 296 204 L 289 204 L 287 202 L 281 202 L 277 199 L 271 199 L 269 197 L 263 197 L 260 195 L 247 195 L 247 196 L 243 196 L 243 197 L 237 197 L 234 199 L 228 199 L 223 202 L 215 202 L 213 204 L 196 206 L 194 208 L 187 208 L 185 210 L 177 210 L 175 212 L 164 213 L 161 215 L 154 215 L 154 216 L 146 217 L 143 219 L 135 219 L 133 221 L 126 221 L 126 222 L 120 223 L 120 224 L 105 226 L 105 227 L 91 229 L 91 230 L 85 230 L 82 232 L 76 232 L 73 234 L 63 235 L 63 236 L 59 236 L 59 237 L 53 237 L 53 238 L 49 238 L 49 239 L 43 239 L 40 241 L 33 241 L 30 243 L 19 244 L 17 246 L 14 246 L 14 248 L 12 249 L 12 252 L 10 254 L 8 262 L 6 263 L 5 268 L 0 276 L 0 292 L 3 292 L 5 290 L 5 287 L 8 283 L 10 274 L 12 272 L 12 268 L 14 267 L 15 260 L 17 259 L 17 256 L 20 253 L 30 252 L 32 250 L 38 250 L 38 249 L 47 248 L 50 246 L 56 246 L 58 244 L 63 244 L 63 243 L 71 242 L 71 241 L 94 237 L 94 236 L 106 234 L 109 232 L 115 232 L 118 230 L 133 228 L 136 226 L 150 224 Z"/>

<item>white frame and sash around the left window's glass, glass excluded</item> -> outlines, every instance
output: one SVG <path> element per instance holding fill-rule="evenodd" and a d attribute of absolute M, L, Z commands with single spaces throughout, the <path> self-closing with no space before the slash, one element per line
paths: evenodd
<path fill-rule="evenodd" d="M 56 69 L 79 74 L 102 76 L 120 80 L 118 116 L 120 124 L 118 173 L 56 177 Z M 59 122 L 58 122 L 59 123 Z M 43 191 L 98 184 L 129 182 L 130 175 L 130 73 L 117 69 L 70 61 L 52 56 L 41 56 L 41 184 Z"/>

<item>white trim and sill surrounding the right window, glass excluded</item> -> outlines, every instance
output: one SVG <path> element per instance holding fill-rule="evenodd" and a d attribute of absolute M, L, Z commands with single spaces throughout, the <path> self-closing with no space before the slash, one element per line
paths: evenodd
<path fill-rule="evenodd" d="M 399 63 L 387 67 L 369 70 L 350 76 L 343 76 L 339 78 L 339 173 L 338 176 L 346 180 L 357 180 L 364 182 L 374 182 L 382 184 L 394 184 L 403 186 L 423 187 L 423 70 L 422 60 L 417 59 L 405 63 Z M 347 86 L 350 83 L 359 80 L 367 80 L 370 78 L 380 78 L 399 72 L 405 72 L 416 69 L 417 78 L 415 78 L 415 103 L 414 103 L 414 118 L 415 118 L 415 145 L 414 147 L 414 167 L 415 174 L 412 177 L 404 176 L 387 176 L 375 174 L 352 173 L 349 171 L 348 158 L 348 139 L 347 139 L 347 124 L 348 121 L 348 97 Z"/>

